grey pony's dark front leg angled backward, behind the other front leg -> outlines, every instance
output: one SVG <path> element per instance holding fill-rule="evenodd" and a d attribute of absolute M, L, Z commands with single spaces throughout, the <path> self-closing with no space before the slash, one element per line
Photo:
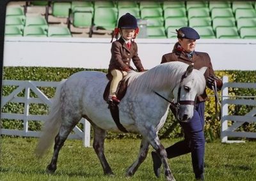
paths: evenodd
<path fill-rule="evenodd" d="M 131 177 L 132 175 L 134 175 L 134 173 L 138 170 L 141 163 L 145 161 L 148 154 L 148 146 L 149 143 L 147 139 L 143 138 L 140 144 L 140 152 L 138 155 L 138 159 L 136 159 L 136 161 L 127 169 L 125 176 Z"/>

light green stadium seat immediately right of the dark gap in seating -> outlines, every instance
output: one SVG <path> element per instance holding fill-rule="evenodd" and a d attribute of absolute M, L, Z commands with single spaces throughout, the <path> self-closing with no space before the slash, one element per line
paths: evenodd
<path fill-rule="evenodd" d="M 89 9 L 88 9 L 89 8 Z M 90 10 L 91 7 L 76 7 L 74 8 L 73 13 L 73 22 L 74 27 L 91 27 L 93 20 L 93 12 Z"/>

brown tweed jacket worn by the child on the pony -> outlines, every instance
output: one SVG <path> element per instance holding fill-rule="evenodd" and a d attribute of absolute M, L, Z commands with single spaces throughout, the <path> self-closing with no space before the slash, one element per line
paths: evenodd
<path fill-rule="evenodd" d="M 144 70 L 140 57 L 138 56 L 137 43 L 131 41 L 131 48 L 129 50 L 124 39 L 121 37 L 112 43 L 108 73 L 113 69 L 119 69 L 122 71 L 127 67 L 132 69 L 130 64 L 131 60 L 138 71 L 141 71 L 142 69 Z"/>

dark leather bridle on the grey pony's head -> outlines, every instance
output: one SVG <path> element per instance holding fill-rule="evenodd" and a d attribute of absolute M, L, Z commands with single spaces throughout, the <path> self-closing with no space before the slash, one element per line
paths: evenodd
<path fill-rule="evenodd" d="M 174 101 L 169 101 L 168 99 L 164 98 L 164 96 L 162 96 L 161 94 L 157 93 L 156 91 L 155 94 L 157 94 L 157 96 L 163 98 L 164 100 L 168 101 L 168 103 L 170 103 L 170 109 L 172 110 L 173 114 L 175 115 L 175 117 L 177 118 L 177 113 L 179 111 L 180 105 L 193 105 L 194 109 L 195 109 L 195 105 L 196 105 L 196 97 L 194 101 L 180 101 L 180 91 L 181 91 L 181 85 L 182 82 L 184 80 L 184 78 L 186 78 L 188 76 L 187 71 L 181 76 L 180 82 L 179 82 L 179 89 L 178 89 L 178 97 L 177 97 L 177 102 L 175 103 Z"/>

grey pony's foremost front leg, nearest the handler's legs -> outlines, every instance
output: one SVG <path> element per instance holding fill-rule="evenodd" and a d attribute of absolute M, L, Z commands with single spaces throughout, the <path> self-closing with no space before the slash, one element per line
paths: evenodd
<path fill-rule="evenodd" d="M 157 154 L 161 158 L 164 167 L 165 177 L 167 178 L 168 181 L 175 181 L 175 178 L 172 175 L 172 171 L 170 170 L 168 165 L 166 150 L 163 147 L 162 143 L 160 142 L 154 127 L 148 129 L 148 132 L 145 135 L 147 135 L 148 142 L 150 143 L 150 145 L 152 145 L 152 147 L 156 150 Z"/>

